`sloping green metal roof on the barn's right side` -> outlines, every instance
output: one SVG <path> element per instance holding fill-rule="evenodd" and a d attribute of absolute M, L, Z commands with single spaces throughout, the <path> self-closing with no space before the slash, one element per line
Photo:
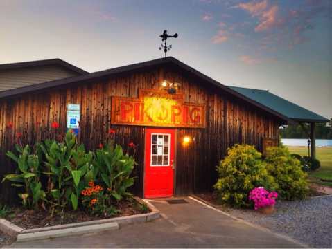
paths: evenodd
<path fill-rule="evenodd" d="M 229 86 L 229 88 L 295 122 L 329 122 L 328 119 L 270 93 L 268 90 L 248 89 L 237 86 Z"/>

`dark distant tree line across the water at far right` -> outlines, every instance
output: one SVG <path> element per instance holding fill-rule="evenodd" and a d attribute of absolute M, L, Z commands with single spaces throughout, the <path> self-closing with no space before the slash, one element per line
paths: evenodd
<path fill-rule="evenodd" d="M 308 124 L 304 124 L 304 127 L 310 131 Z M 281 138 L 308 138 L 308 134 L 299 124 L 281 127 L 279 131 Z M 317 139 L 332 139 L 332 125 L 326 123 L 317 123 L 315 133 Z"/>

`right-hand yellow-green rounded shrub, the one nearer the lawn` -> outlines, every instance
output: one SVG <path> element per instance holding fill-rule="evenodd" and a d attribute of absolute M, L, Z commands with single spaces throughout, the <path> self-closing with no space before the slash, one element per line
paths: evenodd
<path fill-rule="evenodd" d="M 288 201 L 304 199 L 308 194 L 306 173 L 300 161 L 290 155 L 287 147 L 270 147 L 265 158 L 268 173 L 277 182 L 281 199 Z"/>

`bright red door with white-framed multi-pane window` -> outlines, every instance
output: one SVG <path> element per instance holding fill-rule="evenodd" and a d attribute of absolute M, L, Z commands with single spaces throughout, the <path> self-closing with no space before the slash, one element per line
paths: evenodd
<path fill-rule="evenodd" d="M 144 197 L 173 196 L 175 130 L 146 129 Z"/>

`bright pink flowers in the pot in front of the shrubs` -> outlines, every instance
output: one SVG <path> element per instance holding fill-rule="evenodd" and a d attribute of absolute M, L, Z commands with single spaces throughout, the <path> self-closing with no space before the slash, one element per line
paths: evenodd
<path fill-rule="evenodd" d="M 277 197 L 277 192 L 268 192 L 264 187 L 255 187 L 249 194 L 249 200 L 254 202 L 255 210 L 274 205 Z"/>

